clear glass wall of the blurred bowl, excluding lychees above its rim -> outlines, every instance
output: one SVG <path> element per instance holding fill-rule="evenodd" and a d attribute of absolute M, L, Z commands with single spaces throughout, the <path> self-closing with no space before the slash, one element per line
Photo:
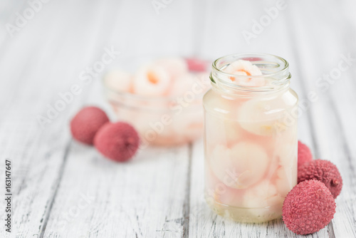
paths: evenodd
<path fill-rule="evenodd" d="M 122 62 L 120 68 L 135 73 L 142 62 L 150 61 L 142 60 L 141 57 L 140 63 L 136 62 L 135 65 L 130 64 L 125 67 Z M 112 68 L 119 67 L 113 66 Z M 203 78 L 201 73 L 197 73 L 197 77 L 194 78 L 197 81 L 194 82 L 196 87 L 187 90 L 184 95 L 169 98 L 143 96 L 115 90 L 105 82 L 105 77 L 103 77 L 104 95 L 117 116 L 117 120 L 130 123 L 136 128 L 140 134 L 142 146 L 184 145 L 200 138 L 204 130 L 202 96 L 210 88 L 210 81 L 207 74 L 206 78 Z M 197 88 L 204 88 L 204 90 L 197 93 Z"/>

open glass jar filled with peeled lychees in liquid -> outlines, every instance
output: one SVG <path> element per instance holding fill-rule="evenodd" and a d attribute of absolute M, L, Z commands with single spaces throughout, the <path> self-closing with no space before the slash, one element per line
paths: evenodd
<path fill-rule="evenodd" d="M 238 60 L 250 61 L 262 75 L 224 71 Z M 203 99 L 204 157 L 205 198 L 217 214 L 238 222 L 281 217 L 283 200 L 297 184 L 298 96 L 290 78 L 288 62 L 278 56 L 214 61 Z"/>

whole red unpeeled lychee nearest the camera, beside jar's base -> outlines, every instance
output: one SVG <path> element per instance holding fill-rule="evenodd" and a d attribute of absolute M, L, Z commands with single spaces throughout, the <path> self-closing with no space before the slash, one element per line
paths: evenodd
<path fill-rule="evenodd" d="M 296 234 L 311 234 L 333 219 L 335 200 L 323 182 L 308 180 L 295 185 L 283 202 L 283 221 Z"/>

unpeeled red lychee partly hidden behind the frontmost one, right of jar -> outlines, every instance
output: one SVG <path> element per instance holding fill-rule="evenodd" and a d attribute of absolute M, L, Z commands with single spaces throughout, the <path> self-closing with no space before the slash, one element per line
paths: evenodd
<path fill-rule="evenodd" d="M 340 195 L 342 177 L 337 167 L 328 160 L 312 160 L 298 168 L 298 183 L 319 180 L 330 190 L 334 198 Z"/>

